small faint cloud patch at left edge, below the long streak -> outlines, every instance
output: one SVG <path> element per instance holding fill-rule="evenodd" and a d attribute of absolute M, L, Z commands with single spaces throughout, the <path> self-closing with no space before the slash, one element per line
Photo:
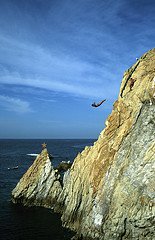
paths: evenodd
<path fill-rule="evenodd" d="M 0 106 L 7 111 L 17 113 L 26 113 L 31 111 L 28 102 L 18 98 L 11 98 L 3 95 L 0 95 Z"/>

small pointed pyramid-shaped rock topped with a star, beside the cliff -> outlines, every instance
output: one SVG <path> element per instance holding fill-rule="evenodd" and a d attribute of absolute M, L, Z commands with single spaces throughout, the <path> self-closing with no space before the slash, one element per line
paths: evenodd
<path fill-rule="evenodd" d="M 59 177 L 45 148 L 13 189 L 12 201 L 53 208 L 62 191 Z"/>

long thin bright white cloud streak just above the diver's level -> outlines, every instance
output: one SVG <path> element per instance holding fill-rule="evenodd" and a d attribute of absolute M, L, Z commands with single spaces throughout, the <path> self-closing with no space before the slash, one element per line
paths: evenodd
<path fill-rule="evenodd" d="M 64 92 L 69 93 L 74 96 L 82 96 L 82 97 L 105 97 L 110 95 L 110 88 L 107 86 L 98 85 L 97 82 L 94 84 L 77 84 L 75 83 L 65 83 L 62 81 L 48 79 L 33 79 L 33 78 L 23 78 L 23 77 L 15 77 L 12 75 L 1 76 L 0 83 L 2 84 L 15 84 L 15 85 L 23 85 L 29 87 L 36 87 L 46 90 L 52 90 L 56 92 Z"/>

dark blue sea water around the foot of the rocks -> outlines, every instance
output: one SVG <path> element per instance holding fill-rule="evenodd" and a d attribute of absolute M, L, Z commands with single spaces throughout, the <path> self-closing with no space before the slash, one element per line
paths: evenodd
<path fill-rule="evenodd" d="M 61 226 L 60 216 L 49 209 L 23 207 L 10 201 L 11 191 L 47 143 L 53 165 L 73 161 L 94 139 L 84 140 L 0 140 L 0 239 L 69 240 L 73 233 Z M 18 166 L 18 169 L 8 170 Z"/>

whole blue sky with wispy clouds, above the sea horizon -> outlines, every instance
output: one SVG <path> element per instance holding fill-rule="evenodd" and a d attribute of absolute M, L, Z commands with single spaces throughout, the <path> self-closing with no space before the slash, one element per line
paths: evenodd
<path fill-rule="evenodd" d="M 0 138 L 97 138 L 124 71 L 154 47 L 154 12 L 153 0 L 1 0 Z"/>

